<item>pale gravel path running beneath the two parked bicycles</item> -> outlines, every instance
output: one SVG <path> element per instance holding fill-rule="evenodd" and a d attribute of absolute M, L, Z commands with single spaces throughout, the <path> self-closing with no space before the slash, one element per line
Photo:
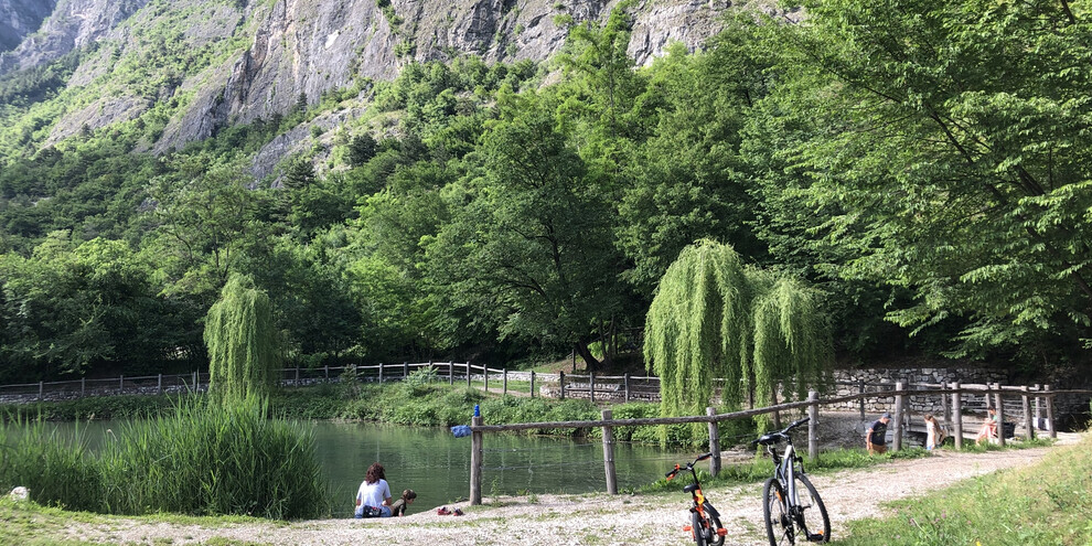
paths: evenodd
<path fill-rule="evenodd" d="M 1078 435 L 1060 435 L 1059 445 L 1079 441 Z M 879 505 L 940 489 L 957 481 L 1000 469 L 1038 461 L 1051 448 L 986 453 L 941 452 L 924 459 L 813 477 L 831 514 L 837 536 L 850 520 L 881 515 Z M 728 528 L 726 545 L 764 544 L 761 488 L 757 484 L 708 489 L 710 501 Z M 299 524 L 245 524 L 215 528 L 199 525 L 148 524 L 116 520 L 110 525 L 73 524 L 64 536 L 121 544 L 200 544 L 214 537 L 249 543 L 297 545 L 355 544 L 543 544 L 550 546 L 618 544 L 682 545 L 688 534 L 688 494 L 608 496 L 539 495 L 485 499 L 492 505 L 467 507 L 463 516 L 440 516 L 435 510 L 390 520 L 324 520 Z M 454 505 L 449 506 L 451 508 Z M 60 538 L 60 537 L 57 537 Z"/>

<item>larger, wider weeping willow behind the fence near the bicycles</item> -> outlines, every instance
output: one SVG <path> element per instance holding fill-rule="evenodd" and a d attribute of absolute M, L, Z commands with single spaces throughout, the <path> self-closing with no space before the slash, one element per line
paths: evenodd
<path fill-rule="evenodd" d="M 820 297 L 802 282 L 743 265 L 729 245 L 700 240 L 679 253 L 656 289 L 644 358 L 660 376 L 663 415 L 700 414 L 720 399 L 772 402 L 783 385 L 803 394 L 831 360 Z"/>

